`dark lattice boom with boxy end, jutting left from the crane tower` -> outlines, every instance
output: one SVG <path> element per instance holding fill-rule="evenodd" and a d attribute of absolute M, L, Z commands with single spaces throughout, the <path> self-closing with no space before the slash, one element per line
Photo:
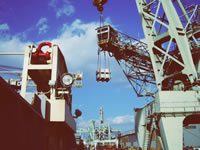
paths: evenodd
<path fill-rule="evenodd" d="M 137 96 L 152 96 L 157 89 L 147 44 L 114 30 L 110 25 L 96 31 L 101 51 L 116 59 Z"/>

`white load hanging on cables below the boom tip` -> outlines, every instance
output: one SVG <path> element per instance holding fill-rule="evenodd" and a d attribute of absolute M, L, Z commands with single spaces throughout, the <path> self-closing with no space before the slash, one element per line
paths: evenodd
<path fill-rule="evenodd" d="M 111 79 L 111 72 L 108 68 L 99 68 L 96 72 L 96 80 L 108 82 Z"/>

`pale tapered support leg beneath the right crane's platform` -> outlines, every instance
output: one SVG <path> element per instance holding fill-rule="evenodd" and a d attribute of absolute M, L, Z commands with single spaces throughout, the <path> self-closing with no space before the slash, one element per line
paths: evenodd
<path fill-rule="evenodd" d="M 183 149 L 183 117 L 161 117 L 159 128 L 165 150 Z"/>

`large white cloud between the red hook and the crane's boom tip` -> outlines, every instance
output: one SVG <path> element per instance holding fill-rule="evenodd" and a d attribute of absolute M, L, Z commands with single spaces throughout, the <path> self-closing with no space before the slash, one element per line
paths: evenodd
<path fill-rule="evenodd" d="M 73 70 L 91 71 L 96 68 L 96 27 L 95 22 L 84 24 L 77 19 L 71 25 L 63 25 L 62 33 L 52 40 L 59 45 L 67 65 Z"/>

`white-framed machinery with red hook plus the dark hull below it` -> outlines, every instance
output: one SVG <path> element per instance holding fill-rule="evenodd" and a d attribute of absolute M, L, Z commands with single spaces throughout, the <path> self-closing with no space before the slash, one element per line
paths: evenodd
<path fill-rule="evenodd" d="M 13 77 L 10 73 L 20 75 L 19 79 L 7 80 L 8 84 L 1 78 L 4 122 L 1 147 L 76 149 L 75 119 L 81 111 L 76 109 L 72 113 L 71 90 L 82 86 L 82 73 L 70 73 L 59 46 L 50 42 L 37 47 L 28 45 L 23 53 L 0 52 L 0 55 L 24 56 L 23 68 L 0 65 L 4 70 L 0 74 L 6 74 L 3 78 Z"/>

